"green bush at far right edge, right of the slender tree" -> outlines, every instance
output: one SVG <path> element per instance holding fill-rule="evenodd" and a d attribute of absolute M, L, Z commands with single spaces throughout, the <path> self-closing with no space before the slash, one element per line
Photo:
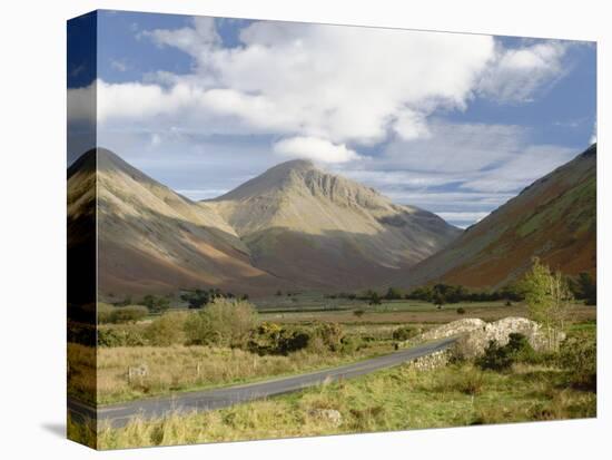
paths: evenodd
<path fill-rule="evenodd" d="M 596 390 L 598 349 L 594 340 L 584 337 L 565 340 L 561 345 L 559 362 L 571 371 L 572 383 L 575 386 Z"/>

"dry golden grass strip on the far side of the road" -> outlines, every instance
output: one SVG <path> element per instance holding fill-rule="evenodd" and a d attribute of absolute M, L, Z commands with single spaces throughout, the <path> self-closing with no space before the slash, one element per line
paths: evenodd
<path fill-rule="evenodd" d="M 97 394 L 100 404 L 303 373 L 391 351 L 391 345 L 378 344 L 352 354 L 304 350 L 286 356 L 260 356 L 238 349 L 198 345 L 100 348 L 96 380 L 90 365 L 93 349 L 73 343 L 68 346 L 75 373 L 70 393 L 88 401 Z M 148 374 L 130 381 L 128 369 L 141 364 L 148 368 Z"/>

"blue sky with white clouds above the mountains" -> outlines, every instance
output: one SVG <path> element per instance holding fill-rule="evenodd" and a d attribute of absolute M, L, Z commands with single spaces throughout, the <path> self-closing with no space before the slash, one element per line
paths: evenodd
<path fill-rule="evenodd" d="M 69 27 L 69 163 L 87 148 L 70 134 L 96 126 L 99 147 L 193 199 L 307 158 L 466 227 L 596 139 L 593 42 L 120 11 L 87 21 Z M 82 45 L 91 25 L 97 59 Z"/>

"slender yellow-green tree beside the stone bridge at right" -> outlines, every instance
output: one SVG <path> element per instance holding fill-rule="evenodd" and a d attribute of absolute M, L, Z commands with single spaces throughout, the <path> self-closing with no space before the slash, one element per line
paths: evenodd
<path fill-rule="evenodd" d="M 565 277 L 560 273 L 552 273 L 540 258 L 533 258 L 533 266 L 523 281 L 525 302 L 533 321 L 544 329 L 549 341 L 549 349 L 557 351 L 560 332 L 565 329 L 572 293 Z"/>

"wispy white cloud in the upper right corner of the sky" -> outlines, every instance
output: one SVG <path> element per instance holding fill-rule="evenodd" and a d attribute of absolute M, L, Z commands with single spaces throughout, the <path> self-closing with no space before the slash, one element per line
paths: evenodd
<path fill-rule="evenodd" d="M 549 40 L 524 48 L 497 47 L 478 90 L 502 102 L 530 101 L 542 87 L 564 75 L 563 58 L 569 45 Z"/>

